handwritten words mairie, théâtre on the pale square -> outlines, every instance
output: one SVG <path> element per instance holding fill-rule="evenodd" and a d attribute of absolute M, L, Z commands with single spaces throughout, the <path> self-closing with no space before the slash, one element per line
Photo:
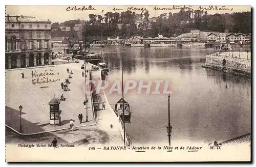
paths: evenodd
<path fill-rule="evenodd" d="M 46 70 L 47 71 L 47 70 Z M 36 71 L 31 72 L 32 75 L 32 84 L 48 84 L 49 82 L 56 82 L 59 79 L 51 79 L 48 76 L 53 76 L 55 75 L 54 72 L 45 72 L 45 73 L 37 73 Z M 33 79 L 34 78 L 34 79 Z"/>

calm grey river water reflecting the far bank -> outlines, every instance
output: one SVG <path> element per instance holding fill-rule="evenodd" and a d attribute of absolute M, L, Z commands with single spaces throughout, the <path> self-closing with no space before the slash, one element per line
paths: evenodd
<path fill-rule="evenodd" d="M 100 48 L 92 51 L 100 53 Z M 250 132 L 251 80 L 205 69 L 211 48 L 204 47 L 105 47 L 110 72 L 107 80 L 168 80 L 172 141 L 223 142 Z M 121 94 L 108 94 L 111 104 Z M 127 93 L 132 107 L 126 130 L 133 144 L 168 143 L 167 94 Z"/>

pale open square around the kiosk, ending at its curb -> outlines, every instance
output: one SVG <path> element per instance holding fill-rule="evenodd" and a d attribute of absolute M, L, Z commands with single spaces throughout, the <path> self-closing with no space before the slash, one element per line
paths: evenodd
<path fill-rule="evenodd" d="M 19 105 L 23 106 L 22 110 L 22 128 L 23 133 L 37 133 L 69 127 L 70 119 L 74 121 L 74 127 L 81 125 L 95 124 L 92 113 L 92 105 L 90 94 L 87 95 L 88 102 L 88 121 L 86 121 L 86 109 L 84 109 L 83 101 L 85 93 L 83 91 L 84 77 L 80 67 L 80 63 L 69 63 L 57 66 L 40 66 L 40 68 L 23 68 L 6 70 L 6 125 L 19 131 L 20 127 L 20 111 Z M 68 87 L 71 91 L 65 92 L 61 89 L 61 81 L 64 83 L 69 74 L 67 68 L 74 73 L 69 80 L 71 84 Z M 45 75 L 40 77 L 32 77 L 33 73 L 52 73 L 54 75 Z M 70 72 L 69 71 L 69 72 Z M 21 73 L 25 74 L 22 78 Z M 39 78 L 41 84 L 32 82 L 32 79 Z M 48 79 L 48 83 L 46 83 Z M 49 82 L 49 79 L 56 80 Z M 45 82 L 43 82 L 43 80 Z M 50 111 L 48 102 L 55 96 L 60 98 L 61 94 L 66 97 L 66 101 L 60 102 L 61 125 L 50 125 Z M 83 123 L 79 124 L 78 114 L 82 113 Z"/>

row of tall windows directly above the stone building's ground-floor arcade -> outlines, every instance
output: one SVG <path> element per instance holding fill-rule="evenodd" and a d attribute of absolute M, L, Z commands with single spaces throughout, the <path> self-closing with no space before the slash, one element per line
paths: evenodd
<path fill-rule="evenodd" d="M 23 41 L 22 42 L 22 50 L 25 50 L 25 45 L 26 43 Z M 45 41 L 43 44 L 40 41 L 36 42 L 36 47 L 33 45 L 33 41 L 29 41 L 29 49 L 33 50 L 33 49 L 42 49 L 42 48 L 49 48 L 49 41 Z M 18 42 L 16 41 L 11 41 L 11 42 L 6 42 L 5 44 L 5 49 L 6 50 L 16 50 L 18 49 Z"/>

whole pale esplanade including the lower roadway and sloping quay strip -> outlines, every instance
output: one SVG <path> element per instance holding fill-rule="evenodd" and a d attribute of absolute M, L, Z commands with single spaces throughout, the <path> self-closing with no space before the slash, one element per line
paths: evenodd
<path fill-rule="evenodd" d="M 70 119 L 75 120 L 74 127 L 80 125 L 88 125 L 86 127 L 79 127 L 78 130 L 61 130 L 59 132 L 51 132 L 52 135 L 68 143 L 84 143 L 84 139 L 89 143 L 110 143 L 110 144 L 122 144 L 122 137 L 116 124 L 118 119 L 115 114 L 111 112 L 110 105 L 106 103 L 106 109 L 100 110 L 95 125 L 92 113 L 91 95 L 87 94 L 88 102 L 88 123 L 86 121 L 86 109 L 84 109 L 83 101 L 85 100 L 84 94 L 84 77 L 82 77 L 80 63 L 62 64 L 57 66 L 35 67 L 26 69 L 13 69 L 6 71 L 6 124 L 11 128 L 19 131 L 20 125 L 20 112 L 19 105 L 23 106 L 22 110 L 22 126 L 23 133 L 37 133 L 49 130 L 57 130 L 63 128 L 69 128 Z M 91 69 L 91 65 L 87 65 L 87 70 Z M 67 72 L 69 68 L 69 73 Z M 40 77 L 33 77 L 33 73 L 54 73 L 54 75 L 46 75 Z M 65 79 L 68 78 L 70 71 L 72 78 L 69 80 L 71 84 L 68 87 L 71 91 L 65 92 L 61 89 L 61 81 L 65 84 Z M 22 78 L 22 74 L 25 74 L 25 78 Z M 98 72 L 94 73 L 98 74 Z M 100 74 L 100 73 L 99 73 Z M 32 79 L 39 78 L 38 81 L 48 79 L 60 79 L 56 82 L 48 82 L 44 84 L 33 84 Z M 42 80 L 41 80 L 42 79 Z M 88 77 L 87 77 L 88 79 Z M 41 88 L 45 87 L 45 88 Z M 66 97 L 66 101 L 60 102 L 60 110 L 62 110 L 61 125 L 50 125 L 50 111 L 48 102 L 53 98 L 54 94 L 60 98 L 61 94 Z M 106 101 L 106 99 L 105 99 Z M 82 113 L 83 123 L 79 124 L 77 119 L 78 114 Z M 114 121 L 114 122 L 112 122 Z M 115 123 L 116 122 L 116 123 Z M 110 124 L 114 125 L 114 128 L 110 128 Z M 94 126 L 91 126 L 94 125 Z M 75 128 L 77 129 L 77 128 Z M 102 131 L 102 132 L 101 132 Z M 101 134 L 101 135 L 100 135 Z M 103 135 L 104 134 L 104 135 Z M 86 142 L 87 143 L 87 142 Z M 85 144 L 86 144 L 85 143 Z"/>

